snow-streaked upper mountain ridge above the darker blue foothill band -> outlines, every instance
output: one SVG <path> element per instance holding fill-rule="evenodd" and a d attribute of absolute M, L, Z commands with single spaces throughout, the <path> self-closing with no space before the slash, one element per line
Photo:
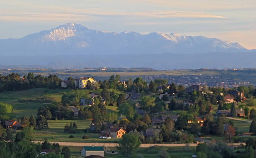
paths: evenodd
<path fill-rule="evenodd" d="M 185 36 L 151 32 L 106 32 L 68 23 L 20 39 L 0 39 L 5 54 L 194 54 L 211 52 L 247 52 L 240 44 L 204 36 Z"/>

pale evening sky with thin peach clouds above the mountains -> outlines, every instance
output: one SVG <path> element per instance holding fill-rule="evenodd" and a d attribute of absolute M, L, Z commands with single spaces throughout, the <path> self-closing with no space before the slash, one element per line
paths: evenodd
<path fill-rule="evenodd" d="M 1 0 L 0 39 L 65 23 L 95 30 L 203 35 L 256 49 L 255 0 Z"/>

